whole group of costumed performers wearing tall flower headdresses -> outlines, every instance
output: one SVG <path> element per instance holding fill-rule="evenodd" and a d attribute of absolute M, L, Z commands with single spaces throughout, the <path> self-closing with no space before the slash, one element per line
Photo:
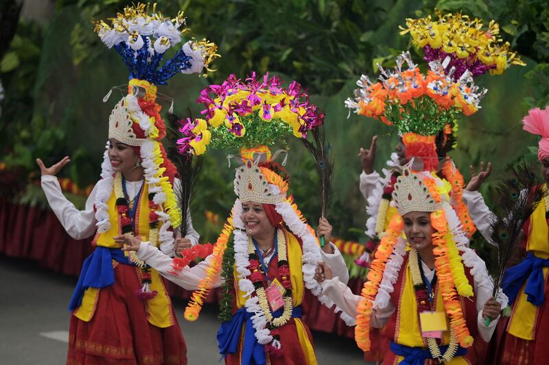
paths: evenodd
<path fill-rule="evenodd" d="M 466 185 L 448 155 L 456 146 L 458 117 L 476 112 L 486 92 L 474 77 L 521 64 L 498 39 L 497 24 L 484 27 L 460 14 L 408 19 L 403 34 L 425 53 L 428 73 L 402 53 L 393 70 L 380 69 L 379 81 L 362 76 L 346 101 L 399 135 L 384 176 L 374 170 L 377 137 L 360 149 L 371 240 L 358 260 L 369 266 L 364 288 L 353 294 L 347 266 L 330 242 L 331 223 L 324 214 L 316 231 L 307 223 L 290 194 L 283 167 L 288 151 L 268 147 L 287 136 L 313 136 L 314 143 L 305 145 L 326 182 L 324 115 L 295 81 L 284 87 L 277 77 L 252 74 L 242 81 L 231 75 L 198 95 L 203 118 L 178 121 L 174 166 L 161 142 L 167 128 L 156 87 L 176 73 L 207 69 L 216 47 L 191 40 L 160 66 L 181 41 L 185 22 L 182 14 L 168 19 L 149 10 L 138 4 L 110 24 L 96 22 L 105 45 L 124 59 L 130 81 L 110 114 L 101 179 L 85 210 L 63 196 L 56 178 L 69 158 L 49 168 L 37 160 L 49 205 L 67 233 L 95 235 L 95 251 L 69 303 L 67 364 L 187 364 L 163 278 L 194 290 L 187 320 L 198 318 L 209 290 L 221 288 L 217 339 L 226 364 L 316 364 L 312 335 L 301 320 L 307 293 L 355 326 L 367 360 L 544 362 L 549 109 L 531 110 L 523 121 L 526 131 L 541 136 L 540 180 L 547 182 L 515 171 L 512 191 L 502 190 L 509 194 L 501 198 L 508 203 L 503 215 L 491 212 L 478 192 L 491 164 L 478 173 L 471 166 Z M 188 174 L 210 149 L 239 151 L 235 202 L 213 245 L 200 244 L 188 207 L 194 181 Z M 284 161 L 276 162 L 281 155 Z M 323 200 L 326 188 L 321 184 Z M 500 260 L 499 280 L 469 247 L 477 230 L 498 253 L 512 251 L 509 260 Z M 198 257 L 204 260 L 189 265 Z"/>

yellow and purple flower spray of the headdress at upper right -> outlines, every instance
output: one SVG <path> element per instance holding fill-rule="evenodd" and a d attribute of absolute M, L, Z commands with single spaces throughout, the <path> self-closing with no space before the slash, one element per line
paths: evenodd
<path fill-rule="evenodd" d="M 500 75 L 512 64 L 525 65 L 519 55 L 511 51 L 509 42 L 502 42 L 500 25 L 495 21 L 486 27 L 480 19 L 460 13 L 436 14 L 438 21 L 431 16 L 406 19 L 406 28 L 401 27 L 401 34 L 410 33 L 414 45 L 423 49 L 425 61 L 447 63 L 446 70 L 453 70 L 451 77 L 455 81 L 467 71 L 472 76 L 487 72 Z"/>

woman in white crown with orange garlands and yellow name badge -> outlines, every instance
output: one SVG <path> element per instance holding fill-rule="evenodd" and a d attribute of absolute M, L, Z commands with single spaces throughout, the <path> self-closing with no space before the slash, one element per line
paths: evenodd
<path fill-rule="evenodd" d="M 449 190 L 431 173 L 404 168 L 393 191 L 398 213 L 375 253 L 362 296 L 329 266 L 317 269 L 324 294 L 356 318 L 360 349 L 370 347 L 371 326 L 387 325 L 391 345 L 384 364 L 476 364 L 473 342 L 490 340 L 506 306 L 504 295 L 491 297 L 493 282 L 467 247 Z M 484 318 L 491 319 L 488 326 Z"/>

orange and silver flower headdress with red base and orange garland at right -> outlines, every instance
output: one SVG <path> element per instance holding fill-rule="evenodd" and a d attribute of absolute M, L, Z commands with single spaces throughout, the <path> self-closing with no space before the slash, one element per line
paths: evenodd
<path fill-rule="evenodd" d="M 470 73 L 454 81 L 445 74 L 441 62 L 432 61 L 429 67 L 427 75 L 423 75 L 410 59 L 410 53 L 401 53 L 393 70 L 381 68 L 379 81 L 362 75 L 354 99 L 347 99 L 345 104 L 357 114 L 395 125 L 406 146 L 406 157 L 419 158 L 424 171 L 438 171 L 439 161 L 446 156 L 441 155 L 437 144 L 454 143 L 456 116 L 461 112 L 465 115 L 477 112 L 486 90 L 475 86 Z M 444 152 L 450 147 L 454 146 L 445 146 Z M 450 160 L 443 162 L 442 171 L 452 184 L 454 207 L 471 236 L 476 229 L 461 199 L 465 187 L 463 175 Z"/>

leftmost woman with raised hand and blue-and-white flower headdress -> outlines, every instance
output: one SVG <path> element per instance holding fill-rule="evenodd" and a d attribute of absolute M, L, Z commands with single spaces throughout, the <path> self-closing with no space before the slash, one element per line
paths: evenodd
<path fill-rule="evenodd" d="M 183 20 L 149 15 L 138 4 L 125 8 L 112 26 L 97 23 L 103 42 L 123 56 L 130 81 L 128 95 L 110 114 L 102 179 L 83 211 L 63 196 L 56 178 L 69 158 L 49 168 L 37 160 L 49 205 L 67 233 L 75 239 L 95 234 L 95 251 L 69 303 L 67 364 L 187 364 L 185 340 L 159 273 L 115 242 L 119 234 L 139 237 L 170 256 L 198 243 L 190 216 L 187 235 L 174 237 L 182 221 L 174 194 L 178 179 L 160 142 L 165 125 L 156 103 L 156 84 L 207 66 L 205 48 L 187 42 L 169 61 L 173 67 L 157 70 L 163 53 L 180 42 Z"/>

